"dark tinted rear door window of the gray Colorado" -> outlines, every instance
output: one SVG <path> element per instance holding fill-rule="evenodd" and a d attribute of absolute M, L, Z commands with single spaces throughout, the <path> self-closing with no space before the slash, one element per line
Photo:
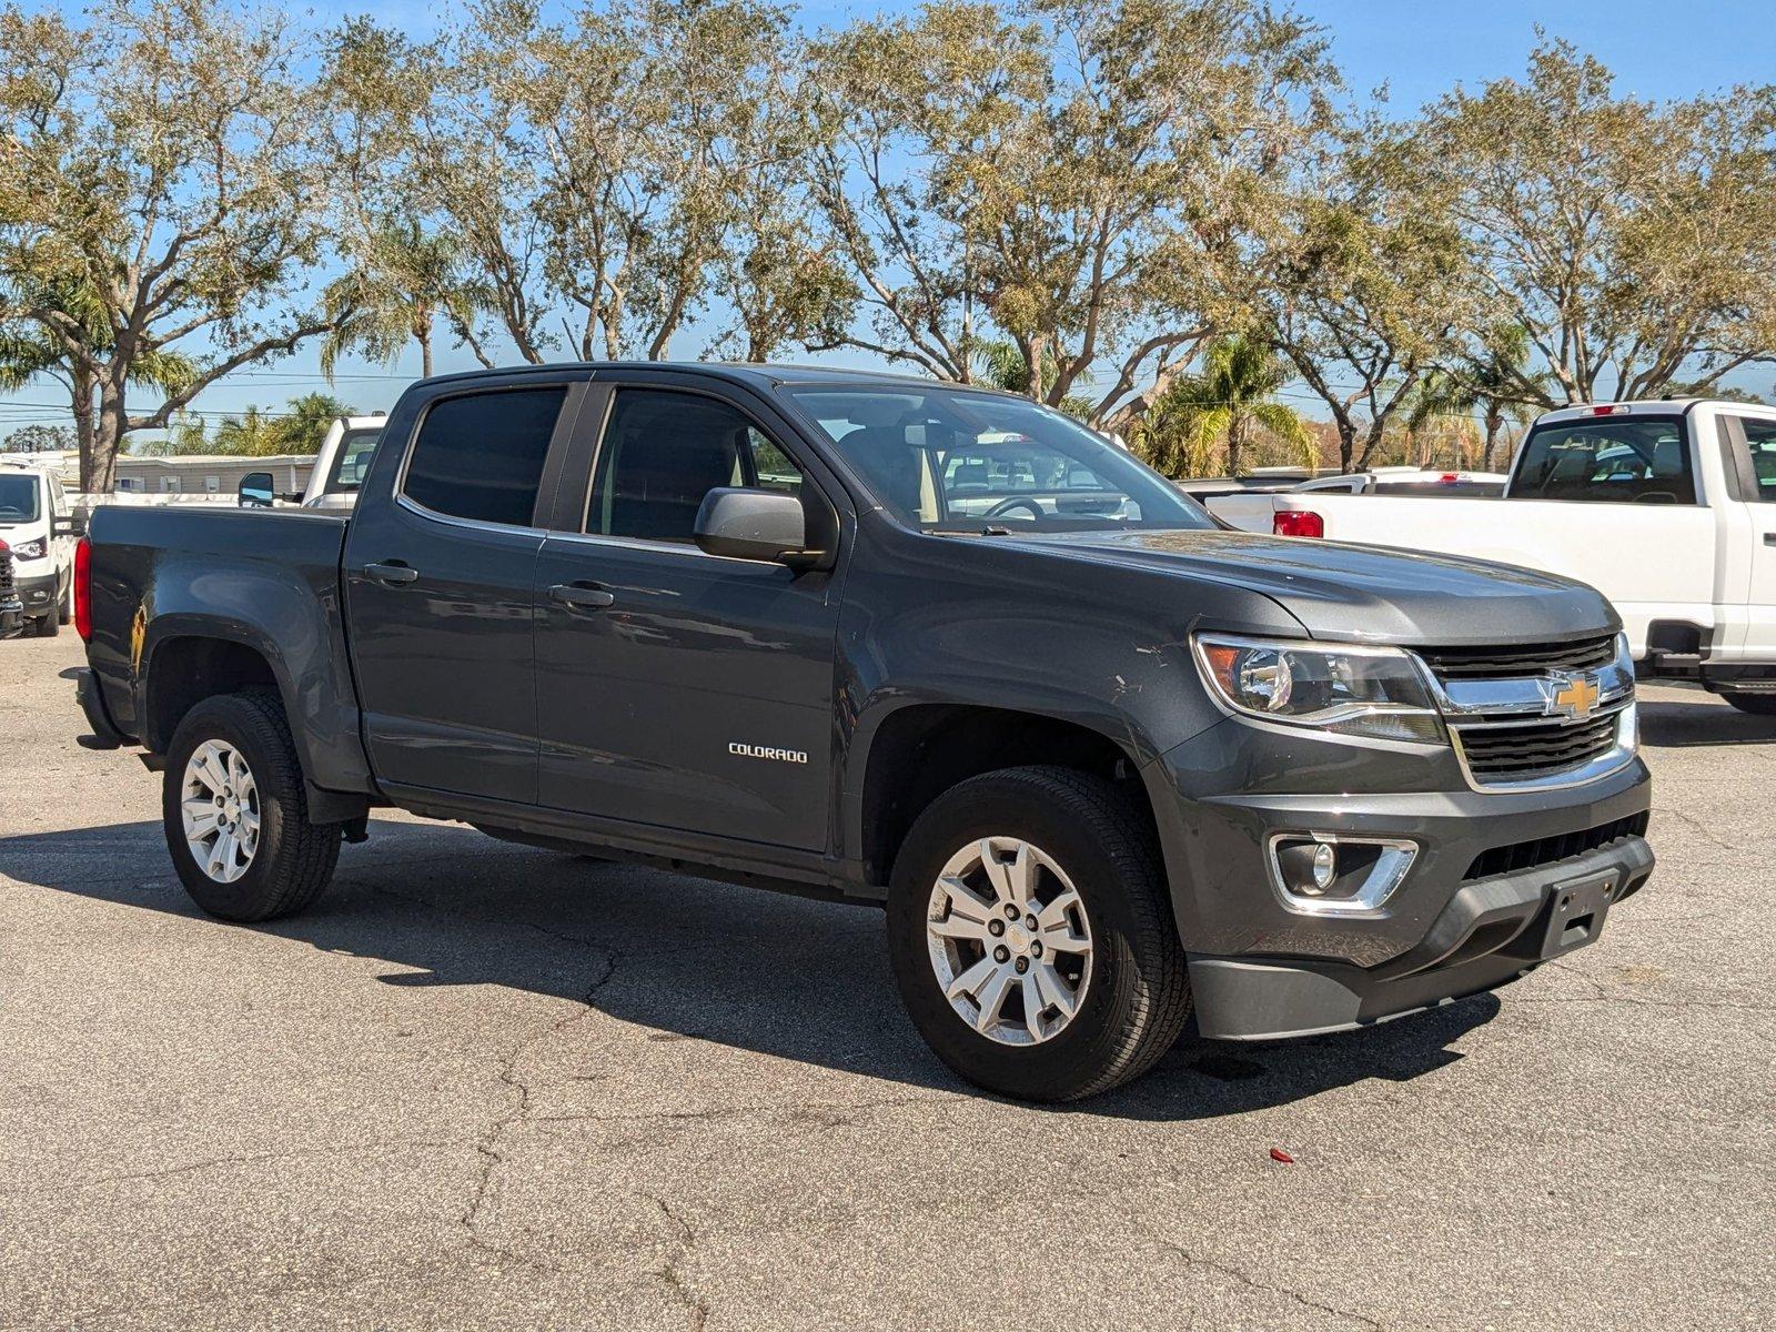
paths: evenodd
<path fill-rule="evenodd" d="M 403 494 L 453 519 L 529 527 L 565 396 L 567 389 L 513 389 L 433 403 L 407 460 Z"/>

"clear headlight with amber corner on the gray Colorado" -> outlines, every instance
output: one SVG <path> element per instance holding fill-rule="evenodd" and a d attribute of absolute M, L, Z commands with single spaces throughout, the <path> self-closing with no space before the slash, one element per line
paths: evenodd
<path fill-rule="evenodd" d="M 1398 648 L 1199 634 L 1195 655 L 1234 712 L 1378 741 L 1447 741 L 1424 677 Z"/>

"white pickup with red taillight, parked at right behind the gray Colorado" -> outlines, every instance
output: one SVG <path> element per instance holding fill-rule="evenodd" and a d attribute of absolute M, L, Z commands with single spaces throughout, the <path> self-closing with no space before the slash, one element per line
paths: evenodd
<path fill-rule="evenodd" d="M 1776 716 L 1776 407 L 1636 401 L 1547 412 L 1497 499 L 1211 496 L 1245 531 L 1565 574 L 1614 602 L 1646 677 Z"/>

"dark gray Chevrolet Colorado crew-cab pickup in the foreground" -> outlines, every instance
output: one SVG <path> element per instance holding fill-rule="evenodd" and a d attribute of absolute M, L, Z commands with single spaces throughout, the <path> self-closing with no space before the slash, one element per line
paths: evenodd
<path fill-rule="evenodd" d="M 394 805 L 886 906 L 936 1053 L 1037 1099 L 1360 1027 L 1646 883 L 1590 588 L 1222 529 L 1027 400 L 886 375 L 426 380 L 350 515 L 101 508 L 89 744 L 192 897 L 298 911 Z"/>

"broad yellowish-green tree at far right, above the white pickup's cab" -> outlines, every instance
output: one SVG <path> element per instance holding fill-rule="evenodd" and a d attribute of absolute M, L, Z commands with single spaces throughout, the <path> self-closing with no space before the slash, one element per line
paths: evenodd
<path fill-rule="evenodd" d="M 1515 389 L 1554 407 L 1776 359 L 1772 128 L 1772 89 L 1620 98 L 1543 39 L 1522 82 L 1449 92 L 1399 156 L 1460 226 L 1492 321 L 1529 339 Z"/>

